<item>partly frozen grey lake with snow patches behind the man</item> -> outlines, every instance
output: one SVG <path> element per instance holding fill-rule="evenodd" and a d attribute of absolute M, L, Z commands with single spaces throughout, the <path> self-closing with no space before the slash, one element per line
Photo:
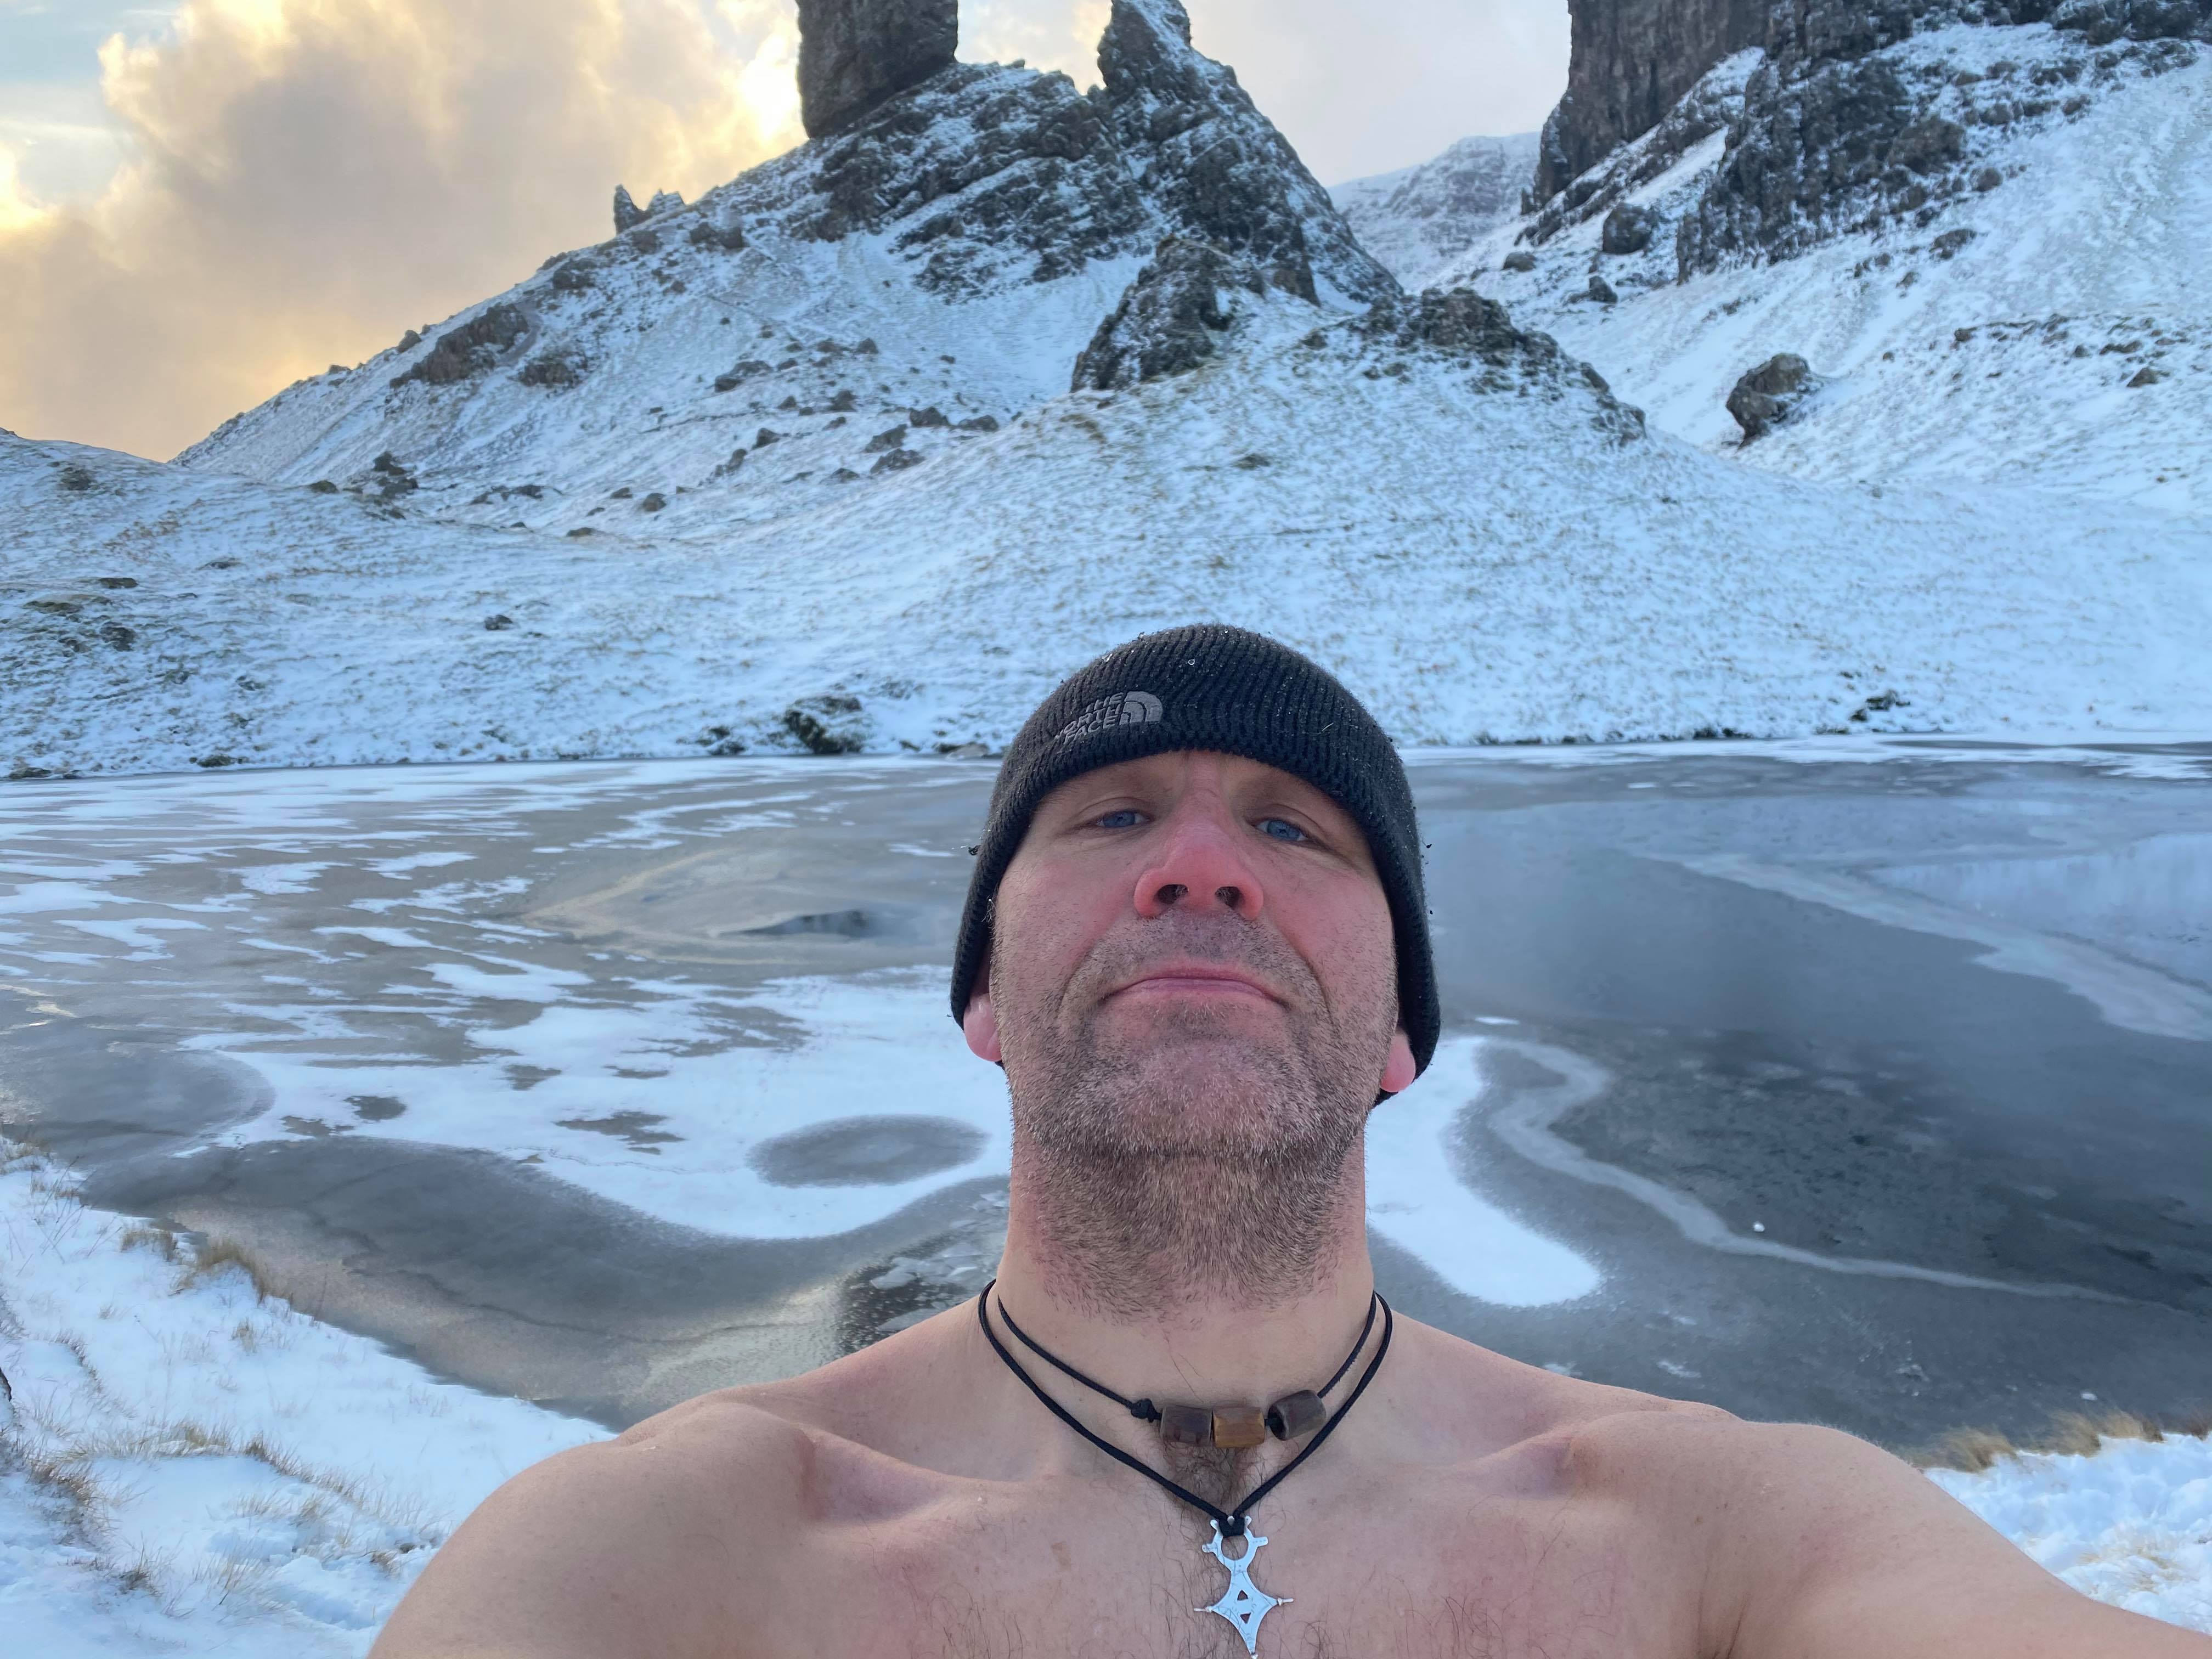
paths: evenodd
<path fill-rule="evenodd" d="M 973 1290 L 945 1011 L 993 768 L 18 783 L 0 1121 L 303 1310 L 604 1422 Z M 1893 1444 L 2203 1405 L 2212 745 L 1418 754 L 1407 1312 Z"/>

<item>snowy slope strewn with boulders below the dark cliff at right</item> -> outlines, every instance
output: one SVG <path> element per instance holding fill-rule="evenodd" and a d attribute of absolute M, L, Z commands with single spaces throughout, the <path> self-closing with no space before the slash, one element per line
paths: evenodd
<path fill-rule="evenodd" d="M 1542 241 L 1522 219 L 1460 272 L 1597 363 L 1657 427 L 1750 467 L 2002 482 L 2201 513 L 2212 500 L 2212 62 L 2172 42 L 2099 53 L 2039 24 L 1944 29 L 1878 58 L 1933 88 L 1933 108 L 1964 128 L 1958 173 L 1975 188 L 1772 263 L 1686 274 L 1677 237 L 1728 155 L 1714 133 L 1621 192 L 1661 217 L 1646 252 L 1599 252 L 1601 215 Z M 1719 66 L 1703 93 L 1741 106 L 1756 60 Z M 1663 142 L 1626 146 L 1599 175 L 1639 177 Z M 1533 272 L 1500 270 L 1515 243 Z M 1593 272 L 1617 305 L 1584 296 Z M 1807 358 L 1829 385 L 1801 418 L 1736 449 L 1728 392 L 1776 352 Z M 2146 367 L 2159 378 L 2130 385 Z"/>

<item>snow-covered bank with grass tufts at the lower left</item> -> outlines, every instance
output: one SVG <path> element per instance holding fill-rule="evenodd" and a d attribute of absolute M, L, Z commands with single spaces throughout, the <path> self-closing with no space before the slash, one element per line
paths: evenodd
<path fill-rule="evenodd" d="M 440 1383 L 0 1141 L 7 1652 L 358 1655 L 515 1471 L 604 1436 Z"/>

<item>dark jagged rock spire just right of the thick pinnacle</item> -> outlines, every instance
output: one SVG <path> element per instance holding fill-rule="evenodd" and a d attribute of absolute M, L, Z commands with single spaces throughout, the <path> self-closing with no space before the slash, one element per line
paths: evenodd
<path fill-rule="evenodd" d="M 1398 292 L 1237 73 L 1192 49 L 1181 0 L 1113 0 L 1099 75 L 1126 164 L 1172 234 L 1245 254 L 1305 299 L 1316 276 L 1356 301 Z"/>

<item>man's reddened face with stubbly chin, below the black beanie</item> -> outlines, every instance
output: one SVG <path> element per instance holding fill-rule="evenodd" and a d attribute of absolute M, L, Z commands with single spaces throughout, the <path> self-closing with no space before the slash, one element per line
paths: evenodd
<path fill-rule="evenodd" d="M 1334 801 L 1157 754 L 1037 807 L 967 1033 L 1062 1150 L 1312 1159 L 1413 1079 L 1396 984 L 1389 902 Z"/>

